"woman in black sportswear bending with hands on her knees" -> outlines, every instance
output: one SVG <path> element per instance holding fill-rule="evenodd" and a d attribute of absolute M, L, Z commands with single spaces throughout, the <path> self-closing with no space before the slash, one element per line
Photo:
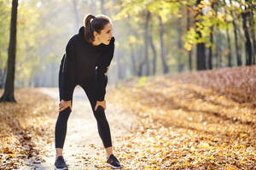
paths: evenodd
<path fill-rule="evenodd" d="M 59 71 L 60 104 L 55 125 L 55 169 L 67 169 L 62 149 L 67 133 L 67 119 L 72 111 L 73 90 L 79 85 L 90 100 L 96 117 L 98 133 L 107 151 L 109 167 L 119 168 L 113 156 L 111 134 L 104 110 L 108 67 L 113 58 L 114 37 L 112 21 L 108 16 L 87 14 L 84 26 L 68 42 Z"/>

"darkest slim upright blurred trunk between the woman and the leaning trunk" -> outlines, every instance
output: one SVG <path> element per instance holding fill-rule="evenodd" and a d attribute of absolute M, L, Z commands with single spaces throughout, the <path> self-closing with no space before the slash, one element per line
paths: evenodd
<path fill-rule="evenodd" d="M 145 35 L 144 35 L 144 47 L 145 47 L 145 64 L 146 64 L 146 76 L 150 74 L 150 65 L 148 60 L 148 23 L 150 19 L 150 12 L 147 11 L 146 22 L 145 22 Z"/>

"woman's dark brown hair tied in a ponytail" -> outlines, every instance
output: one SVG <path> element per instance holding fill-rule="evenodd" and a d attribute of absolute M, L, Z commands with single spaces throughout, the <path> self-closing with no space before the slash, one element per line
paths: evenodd
<path fill-rule="evenodd" d="M 111 19 L 104 14 L 97 14 L 93 16 L 92 14 L 87 14 L 84 17 L 84 38 L 87 42 L 93 42 L 95 37 L 93 31 L 101 33 L 108 23 L 112 23 Z"/>

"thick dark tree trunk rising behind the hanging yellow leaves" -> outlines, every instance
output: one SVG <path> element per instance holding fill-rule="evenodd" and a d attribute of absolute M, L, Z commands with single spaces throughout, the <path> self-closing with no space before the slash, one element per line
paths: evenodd
<path fill-rule="evenodd" d="M 201 3 L 202 0 L 196 1 L 196 7 Z M 196 19 L 198 14 L 202 14 L 201 8 L 200 11 L 195 16 L 195 22 L 200 22 L 200 20 Z M 197 29 L 198 26 L 196 26 Z M 196 31 L 196 33 L 201 37 L 201 31 Z M 205 54 L 205 43 L 199 42 L 196 44 L 196 69 L 198 71 L 206 70 L 206 54 Z"/>

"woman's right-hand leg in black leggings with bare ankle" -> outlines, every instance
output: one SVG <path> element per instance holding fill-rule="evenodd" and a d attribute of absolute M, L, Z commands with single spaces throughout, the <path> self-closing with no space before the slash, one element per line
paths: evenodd
<path fill-rule="evenodd" d="M 105 111 L 102 106 L 99 106 L 97 110 L 94 111 L 96 105 L 96 78 L 94 76 L 90 76 L 90 78 L 88 78 L 84 84 L 81 84 L 81 87 L 84 88 L 84 92 L 90 100 L 91 109 L 96 117 L 98 133 L 102 139 L 102 143 L 106 149 L 107 155 L 110 156 L 113 154 L 112 140 Z"/>

